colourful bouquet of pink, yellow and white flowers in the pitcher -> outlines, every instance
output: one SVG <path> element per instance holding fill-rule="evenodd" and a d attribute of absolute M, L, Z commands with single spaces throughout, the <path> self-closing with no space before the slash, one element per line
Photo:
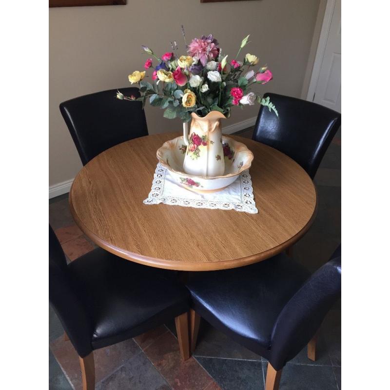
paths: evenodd
<path fill-rule="evenodd" d="M 126 97 L 118 91 L 118 99 L 140 100 L 144 107 L 149 98 L 152 106 L 165 109 L 164 117 L 179 117 L 184 122 L 191 119 L 193 112 L 205 117 L 211 111 L 219 111 L 229 117 L 232 106 L 242 108 L 255 102 L 267 106 L 277 115 L 269 98 L 249 91 L 253 84 L 272 80 L 271 71 L 267 66 L 254 70 L 259 59 L 249 53 L 242 61 L 237 60 L 241 50 L 249 43 L 249 35 L 242 40 L 235 58 L 228 63 L 228 56 L 223 56 L 213 35 L 195 38 L 187 45 L 183 26 L 181 29 L 187 53 L 177 54 L 176 41 L 171 42 L 172 52 L 161 57 L 148 47 L 141 46 L 145 53 L 157 60 L 157 64 L 153 66 L 153 59 L 149 58 L 144 64 L 145 71 L 129 75 L 131 84 L 139 85 L 139 98 Z M 152 83 L 144 79 L 146 70 L 150 69 L 153 69 Z"/>

